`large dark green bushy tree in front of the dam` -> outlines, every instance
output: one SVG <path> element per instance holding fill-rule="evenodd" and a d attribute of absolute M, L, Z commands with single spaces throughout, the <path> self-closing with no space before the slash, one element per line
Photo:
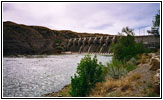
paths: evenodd
<path fill-rule="evenodd" d="M 133 33 L 126 34 L 127 36 L 120 36 L 117 43 L 111 44 L 110 51 L 113 52 L 113 58 L 120 61 L 128 61 L 137 54 L 149 52 L 148 49 L 144 48 L 142 43 L 135 42 Z"/>

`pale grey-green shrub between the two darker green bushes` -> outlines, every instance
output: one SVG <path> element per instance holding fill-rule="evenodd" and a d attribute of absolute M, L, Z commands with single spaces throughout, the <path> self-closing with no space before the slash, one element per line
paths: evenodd
<path fill-rule="evenodd" d="M 121 76 L 127 74 L 124 64 L 116 59 L 113 59 L 112 62 L 107 63 L 106 69 L 107 74 L 114 79 L 119 79 Z"/>

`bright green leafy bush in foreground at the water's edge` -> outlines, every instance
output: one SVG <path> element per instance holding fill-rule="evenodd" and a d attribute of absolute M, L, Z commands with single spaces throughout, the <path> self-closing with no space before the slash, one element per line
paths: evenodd
<path fill-rule="evenodd" d="M 71 96 L 87 96 L 90 89 L 95 86 L 95 83 L 102 81 L 103 65 L 97 62 L 96 55 L 93 59 L 91 59 L 90 55 L 86 55 L 81 59 L 76 74 L 71 77 Z"/>

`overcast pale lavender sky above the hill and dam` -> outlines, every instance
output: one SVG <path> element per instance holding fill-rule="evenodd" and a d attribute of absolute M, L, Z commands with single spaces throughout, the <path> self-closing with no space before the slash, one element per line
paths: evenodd
<path fill-rule="evenodd" d="M 117 34 L 125 26 L 146 33 L 159 3 L 3 3 L 3 21 L 56 30 Z"/>

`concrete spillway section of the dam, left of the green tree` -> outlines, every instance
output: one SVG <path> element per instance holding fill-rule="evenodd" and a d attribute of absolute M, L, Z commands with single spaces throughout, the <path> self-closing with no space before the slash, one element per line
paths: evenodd
<path fill-rule="evenodd" d="M 116 36 L 73 38 L 68 40 L 67 48 L 79 53 L 109 53 L 112 42 L 116 42 Z"/>

